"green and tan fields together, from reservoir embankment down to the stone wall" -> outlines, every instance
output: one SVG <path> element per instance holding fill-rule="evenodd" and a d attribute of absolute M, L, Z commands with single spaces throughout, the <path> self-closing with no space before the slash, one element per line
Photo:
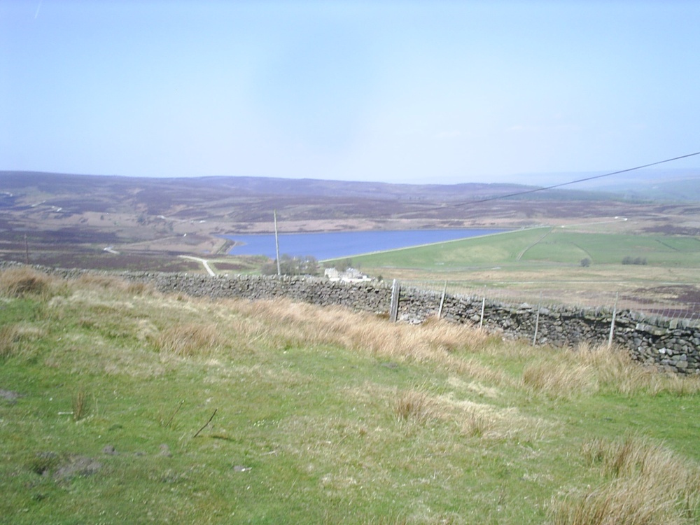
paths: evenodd
<path fill-rule="evenodd" d="M 622 264 L 624 258 L 646 264 Z M 588 259 L 589 265 L 582 265 Z M 695 318 L 700 239 L 533 228 L 352 258 L 410 286 L 491 300 L 619 306 Z"/>

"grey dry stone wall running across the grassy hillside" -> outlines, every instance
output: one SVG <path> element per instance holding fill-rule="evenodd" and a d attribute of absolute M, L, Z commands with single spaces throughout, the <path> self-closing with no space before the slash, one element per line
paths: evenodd
<path fill-rule="evenodd" d="M 8 266 L 8 263 L 1 266 Z M 68 279 L 88 272 L 37 268 Z M 302 276 L 210 277 L 157 272 L 124 272 L 118 275 L 131 281 L 150 283 L 164 293 L 183 293 L 195 297 L 241 297 L 249 300 L 288 297 L 320 306 L 337 304 L 380 315 L 388 314 L 391 305 L 391 283 L 374 281 L 342 283 Z M 402 289 L 398 320 L 421 323 L 430 316 L 437 316 L 441 300 L 440 293 Z M 484 330 L 503 337 L 561 347 L 575 347 L 583 342 L 593 346 L 606 344 L 613 316 L 612 341 L 629 350 L 634 359 L 669 372 L 700 374 L 700 325 L 684 319 L 647 316 L 634 311 L 613 312 L 603 308 L 513 305 L 490 302 L 483 297 L 458 295 L 446 295 L 442 304 L 442 318 L 448 321 L 482 325 Z"/>

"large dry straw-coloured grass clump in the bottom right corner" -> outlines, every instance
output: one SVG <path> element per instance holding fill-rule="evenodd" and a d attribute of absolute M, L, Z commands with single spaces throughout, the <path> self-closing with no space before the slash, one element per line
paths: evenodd
<path fill-rule="evenodd" d="M 636 437 L 593 440 L 582 453 L 612 481 L 554 501 L 556 525 L 690 524 L 700 517 L 700 470 L 661 445 Z"/>

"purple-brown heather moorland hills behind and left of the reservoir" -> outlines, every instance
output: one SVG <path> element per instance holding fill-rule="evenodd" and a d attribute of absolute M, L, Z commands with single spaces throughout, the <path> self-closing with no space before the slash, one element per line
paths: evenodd
<path fill-rule="evenodd" d="M 664 196 L 675 195 L 673 202 L 643 199 L 647 186 L 640 184 L 634 194 L 547 190 L 500 200 L 533 188 L 0 172 L 0 258 L 66 267 L 196 269 L 197 263 L 177 255 L 225 254 L 229 246 L 221 235 L 271 232 L 274 210 L 281 232 L 531 228 L 624 216 L 626 224 L 608 231 L 696 236 L 700 207 L 681 199 L 699 186 L 697 177 L 666 183 Z"/>

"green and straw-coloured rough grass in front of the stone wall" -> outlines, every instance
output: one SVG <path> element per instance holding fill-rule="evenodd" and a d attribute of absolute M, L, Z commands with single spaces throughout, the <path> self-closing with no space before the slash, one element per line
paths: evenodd
<path fill-rule="evenodd" d="M 700 383 L 619 352 L 24 270 L 0 301 L 0 522 L 700 519 Z"/>

